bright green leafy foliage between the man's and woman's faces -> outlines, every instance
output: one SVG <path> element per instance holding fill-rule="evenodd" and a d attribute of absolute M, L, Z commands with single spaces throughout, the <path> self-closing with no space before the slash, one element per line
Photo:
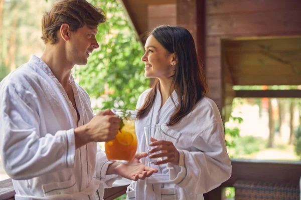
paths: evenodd
<path fill-rule="evenodd" d="M 140 60 L 143 48 L 118 0 L 91 0 L 106 13 L 107 21 L 98 26 L 95 49 L 85 66 L 77 66 L 75 76 L 91 97 L 108 97 L 101 108 L 134 109 L 138 96 L 149 85 Z"/>

